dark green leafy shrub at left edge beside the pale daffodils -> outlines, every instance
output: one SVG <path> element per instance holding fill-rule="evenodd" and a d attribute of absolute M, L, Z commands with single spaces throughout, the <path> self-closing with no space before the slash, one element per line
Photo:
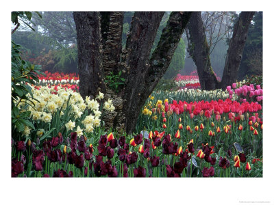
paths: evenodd
<path fill-rule="evenodd" d="M 12 131 L 16 129 L 23 132 L 25 126 L 34 128 L 28 118 L 30 111 L 19 111 L 18 104 L 25 102 L 29 106 L 34 106 L 32 88 L 26 83 L 35 84 L 39 81 L 37 74 L 42 74 L 40 66 L 34 66 L 21 59 L 21 46 L 12 42 Z"/>

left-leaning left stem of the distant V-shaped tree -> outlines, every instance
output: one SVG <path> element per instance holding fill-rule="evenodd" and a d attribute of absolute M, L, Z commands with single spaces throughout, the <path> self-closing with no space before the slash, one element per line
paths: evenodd
<path fill-rule="evenodd" d="M 203 20 L 201 12 L 193 12 L 188 30 L 190 35 L 189 54 L 197 66 L 197 72 L 202 90 L 215 90 L 218 81 L 212 70 L 210 62 L 210 46 L 206 40 L 205 29 L 203 28 Z"/>

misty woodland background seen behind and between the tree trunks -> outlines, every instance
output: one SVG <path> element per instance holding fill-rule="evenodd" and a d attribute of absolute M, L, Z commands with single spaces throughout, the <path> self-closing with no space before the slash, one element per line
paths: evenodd
<path fill-rule="evenodd" d="M 166 26 L 171 12 L 165 12 L 155 38 L 154 51 L 162 29 Z M 21 25 L 12 35 L 12 40 L 23 47 L 23 59 L 42 66 L 42 72 L 77 73 L 77 38 L 73 12 L 41 12 L 32 17 L 32 27 Z M 134 12 L 125 12 L 123 20 L 122 42 L 125 46 L 127 32 Z M 202 12 L 203 27 L 210 45 L 212 68 L 218 77 L 222 77 L 225 57 L 232 37 L 237 12 Z M 188 31 L 184 31 L 164 79 L 172 79 L 177 74 L 194 74 L 196 66 L 188 50 Z M 196 71 L 197 72 L 197 71 Z M 238 81 L 252 74 L 262 74 L 262 12 L 256 12 L 249 27 L 247 42 L 242 54 L 238 72 Z"/>

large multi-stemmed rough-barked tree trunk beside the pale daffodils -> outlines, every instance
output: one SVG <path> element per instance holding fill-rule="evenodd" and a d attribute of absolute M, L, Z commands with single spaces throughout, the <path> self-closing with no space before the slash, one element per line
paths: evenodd
<path fill-rule="evenodd" d="M 86 59 L 88 55 L 91 59 L 99 57 L 96 60 L 101 61 L 101 64 L 98 65 L 103 65 L 102 70 L 101 68 L 97 68 L 97 71 L 101 72 L 92 72 L 95 77 L 91 77 L 90 75 L 83 77 L 83 75 L 79 75 L 79 81 L 82 81 L 82 84 L 79 85 L 79 90 L 87 90 L 86 86 L 99 87 L 97 90 L 89 89 L 88 94 L 81 92 L 82 96 L 95 96 L 99 90 L 105 91 L 105 98 L 112 98 L 115 107 L 114 113 L 103 115 L 106 128 L 112 126 L 120 132 L 126 131 L 127 133 L 132 133 L 134 132 L 140 109 L 144 105 L 145 100 L 147 100 L 149 94 L 151 94 L 153 88 L 169 67 L 173 53 L 188 23 L 191 12 L 171 13 L 166 28 L 162 32 L 160 42 L 151 58 L 149 58 L 149 55 L 164 12 L 135 12 L 123 51 L 121 50 L 123 12 L 102 13 L 101 26 L 99 25 L 99 29 L 101 27 L 103 31 L 101 33 L 101 36 L 103 36 L 101 40 L 103 51 L 101 52 L 98 49 L 100 46 L 98 48 L 95 48 L 95 46 L 86 46 L 86 44 L 93 42 L 95 38 L 96 44 L 99 42 L 98 39 L 101 39 L 101 36 L 90 36 L 98 34 L 97 32 L 83 33 L 83 31 L 88 30 L 99 31 L 97 24 L 100 24 L 100 19 L 89 18 L 89 16 L 98 17 L 99 13 L 74 12 L 77 29 L 79 72 L 86 71 L 85 68 L 95 68 L 93 66 L 95 61 Z M 90 28 L 90 25 L 95 25 L 95 27 Z M 97 50 L 79 52 L 83 49 Z M 85 67 L 86 61 L 88 61 L 89 65 Z M 102 82 L 103 75 L 111 71 L 114 73 L 121 71 L 123 78 L 126 79 L 125 85 L 120 88 L 119 93 L 114 93 L 107 85 L 100 84 L 98 86 L 98 83 L 95 84 L 97 81 Z M 97 79 L 97 81 L 92 81 L 92 79 Z"/>

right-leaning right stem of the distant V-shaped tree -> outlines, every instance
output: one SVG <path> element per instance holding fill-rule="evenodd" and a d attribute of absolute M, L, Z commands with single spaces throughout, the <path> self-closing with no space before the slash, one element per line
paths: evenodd
<path fill-rule="evenodd" d="M 241 12 L 237 23 L 234 25 L 233 36 L 229 42 L 225 68 L 223 70 L 221 82 L 221 88 L 223 90 L 225 90 L 227 85 L 232 85 L 232 83 L 236 82 L 240 61 L 242 59 L 242 51 L 244 51 L 245 48 L 249 25 L 254 14 L 255 12 Z"/>

